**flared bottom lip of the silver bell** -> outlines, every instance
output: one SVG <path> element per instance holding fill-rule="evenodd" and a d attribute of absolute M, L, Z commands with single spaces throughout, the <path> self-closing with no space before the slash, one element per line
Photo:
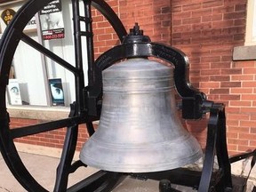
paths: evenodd
<path fill-rule="evenodd" d="M 85 158 L 84 158 L 85 157 Z M 80 153 L 80 160 L 86 164 L 87 166 L 91 166 L 103 171 L 108 171 L 108 172 L 134 172 L 134 173 L 139 173 L 139 172 L 164 172 L 168 170 L 173 170 L 176 168 L 184 167 L 188 164 L 194 164 L 196 161 L 198 161 L 200 158 L 203 157 L 203 151 L 200 148 L 196 153 L 194 153 L 192 156 L 187 156 L 187 158 L 184 159 L 179 159 L 179 164 L 173 164 L 172 162 L 168 162 L 165 164 L 148 164 L 148 167 L 143 164 L 143 167 L 141 165 L 127 165 L 127 164 L 118 164 L 116 166 L 113 166 L 113 164 L 102 164 L 102 162 L 96 162 L 95 159 L 89 157 L 89 156 L 84 156 L 82 153 Z M 84 161 L 84 159 L 86 159 Z"/>

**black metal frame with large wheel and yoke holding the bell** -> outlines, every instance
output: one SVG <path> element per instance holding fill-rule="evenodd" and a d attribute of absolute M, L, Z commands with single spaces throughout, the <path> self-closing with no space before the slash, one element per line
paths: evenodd
<path fill-rule="evenodd" d="M 60 158 L 60 164 L 56 173 L 54 191 L 110 191 L 115 188 L 118 180 L 126 175 L 118 172 L 96 172 L 89 178 L 81 180 L 76 185 L 67 189 L 68 175 L 76 172 L 80 166 L 86 166 L 80 161 L 72 164 L 76 149 L 77 132 L 79 124 L 86 124 L 90 135 L 93 134 L 92 121 L 100 119 L 100 101 L 102 96 L 102 76 L 101 71 L 108 68 L 118 60 L 133 57 L 156 57 L 166 62 L 172 63 L 175 67 L 174 82 L 177 92 L 182 99 L 182 116 L 185 119 L 200 119 L 205 113 L 210 112 L 207 130 L 207 142 L 204 156 L 204 168 L 202 172 L 192 172 L 186 169 L 177 169 L 166 172 L 150 172 L 132 174 L 133 177 L 142 177 L 153 180 L 171 180 L 198 191 L 210 190 L 231 191 L 233 188 L 230 172 L 230 163 L 255 156 L 255 153 L 245 153 L 228 159 L 226 143 L 226 117 L 223 104 L 206 100 L 203 92 L 197 91 L 188 81 L 188 58 L 173 47 L 152 42 L 133 42 L 118 45 L 108 52 L 103 53 L 98 60 L 94 61 L 93 41 L 92 41 L 92 15 L 91 6 L 99 10 L 116 30 L 120 41 L 126 36 L 122 22 L 112 11 L 108 4 L 101 0 L 83 0 L 85 16 L 80 16 L 78 0 L 72 0 L 74 39 L 76 47 L 76 67 L 73 67 L 66 60 L 45 49 L 41 44 L 36 43 L 22 31 L 28 21 L 41 10 L 45 4 L 52 0 L 30 0 L 15 15 L 9 27 L 6 28 L 0 44 L 0 149 L 6 164 L 12 174 L 20 184 L 28 191 L 47 191 L 30 175 L 25 165 L 22 163 L 17 149 L 13 143 L 15 138 L 56 130 L 67 127 L 65 143 Z M 81 31 L 80 24 L 85 23 L 85 31 Z M 82 52 L 83 45 L 81 37 L 85 36 L 87 41 L 88 55 L 88 86 L 84 86 L 84 69 Z M 12 64 L 12 57 L 19 42 L 23 41 L 32 46 L 37 51 L 59 63 L 63 68 L 67 68 L 75 76 L 76 81 L 76 102 L 70 105 L 68 118 L 44 124 L 36 124 L 20 129 L 11 130 L 9 127 L 10 118 L 6 110 L 5 88 L 8 84 L 9 71 Z M 217 156 L 219 163 L 218 172 L 212 172 L 214 156 Z M 180 179 L 177 179 L 180 176 Z"/>

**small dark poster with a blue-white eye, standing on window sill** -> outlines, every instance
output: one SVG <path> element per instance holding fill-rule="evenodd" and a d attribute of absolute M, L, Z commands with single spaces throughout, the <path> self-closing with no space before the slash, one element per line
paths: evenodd
<path fill-rule="evenodd" d="M 49 86 L 52 96 L 52 106 L 64 106 L 64 92 L 61 78 L 49 79 Z"/>

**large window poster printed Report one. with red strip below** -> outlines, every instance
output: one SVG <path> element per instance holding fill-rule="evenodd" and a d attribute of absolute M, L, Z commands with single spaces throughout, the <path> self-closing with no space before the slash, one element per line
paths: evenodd
<path fill-rule="evenodd" d="M 40 21 L 44 40 L 65 37 L 60 0 L 52 1 L 40 11 Z"/>

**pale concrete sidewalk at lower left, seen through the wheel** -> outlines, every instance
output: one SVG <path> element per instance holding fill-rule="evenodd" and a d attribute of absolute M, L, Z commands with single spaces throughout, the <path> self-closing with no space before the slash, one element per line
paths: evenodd
<path fill-rule="evenodd" d="M 52 191 L 54 188 L 56 168 L 60 162 L 59 158 L 52 156 L 40 156 L 20 152 L 20 158 L 25 164 L 28 171 L 33 177 L 47 190 Z M 24 188 L 14 178 L 12 172 L 8 169 L 2 156 L 0 156 L 0 192 L 25 192 Z M 81 167 L 74 174 L 70 174 L 68 185 L 73 185 L 79 180 L 88 177 L 96 172 L 96 169 Z"/>

